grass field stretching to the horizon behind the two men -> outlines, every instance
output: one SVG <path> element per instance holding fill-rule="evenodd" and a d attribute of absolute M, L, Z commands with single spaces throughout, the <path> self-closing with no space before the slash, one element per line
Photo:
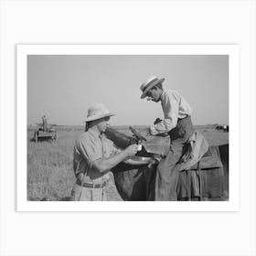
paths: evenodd
<path fill-rule="evenodd" d="M 140 130 L 144 127 L 134 126 Z M 130 134 L 127 126 L 114 127 L 118 131 Z M 218 132 L 212 125 L 196 126 L 205 135 L 210 145 L 229 143 L 229 133 Z M 27 129 L 27 200 L 59 201 L 69 200 L 70 191 L 75 182 L 73 174 L 73 145 L 83 133 L 80 126 L 57 126 L 59 139 L 52 143 L 31 141 L 35 128 Z M 122 200 L 113 180 L 106 193 L 110 200 Z"/>

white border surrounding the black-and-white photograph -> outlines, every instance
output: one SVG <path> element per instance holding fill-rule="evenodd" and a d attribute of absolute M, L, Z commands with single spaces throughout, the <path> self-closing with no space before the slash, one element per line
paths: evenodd
<path fill-rule="evenodd" d="M 239 211 L 240 61 L 238 45 L 17 45 L 17 211 Z M 229 201 L 37 202 L 27 201 L 27 55 L 229 55 Z"/>

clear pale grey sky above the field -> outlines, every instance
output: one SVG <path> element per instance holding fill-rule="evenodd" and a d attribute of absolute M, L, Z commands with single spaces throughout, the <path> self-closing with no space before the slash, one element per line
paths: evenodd
<path fill-rule="evenodd" d="M 83 125 L 88 108 L 103 103 L 112 125 L 149 125 L 163 117 L 161 103 L 141 100 L 151 76 L 178 91 L 194 124 L 229 123 L 228 55 L 29 55 L 27 124 Z"/>

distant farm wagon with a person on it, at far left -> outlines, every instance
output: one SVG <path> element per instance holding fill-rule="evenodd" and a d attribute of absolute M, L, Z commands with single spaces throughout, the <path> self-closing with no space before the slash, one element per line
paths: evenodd
<path fill-rule="evenodd" d="M 34 141 L 37 143 L 38 141 L 56 141 L 58 139 L 58 134 L 56 130 L 50 127 L 48 124 L 48 119 L 44 115 L 42 117 L 42 123 L 38 123 L 39 128 L 34 133 Z"/>

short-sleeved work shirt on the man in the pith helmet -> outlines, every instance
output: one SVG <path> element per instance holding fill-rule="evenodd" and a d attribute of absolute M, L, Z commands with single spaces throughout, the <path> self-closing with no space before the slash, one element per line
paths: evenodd
<path fill-rule="evenodd" d="M 118 148 L 104 134 L 92 129 L 82 133 L 74 146 L 73 167 L 75 175 L 84 173 L 84 183 L 101 184 L 109 180 L 110 170 L 99 172 L 92 163 L 103 157 L 108 158 L 118 153 Z"/>

